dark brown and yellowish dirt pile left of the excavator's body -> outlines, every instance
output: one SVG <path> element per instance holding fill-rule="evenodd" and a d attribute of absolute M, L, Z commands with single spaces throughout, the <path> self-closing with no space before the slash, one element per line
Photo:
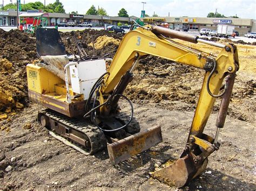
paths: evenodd
<path fill-rule="evenodd" d="M 18 30 L 0 29 L 0 114 L 11 114 L 26 104 L 25 66 L 37 58 L 35 38 Z"/>

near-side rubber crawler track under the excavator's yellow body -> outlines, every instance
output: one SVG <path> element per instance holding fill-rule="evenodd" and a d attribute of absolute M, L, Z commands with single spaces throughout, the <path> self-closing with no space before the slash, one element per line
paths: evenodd
<path fill-rule="evenodd" d="M 96 126 L 92 126 L 90 123 L 86 122 L 85 119 L 83 120 L 83 119 L 77 119 L 77 118 L 69 118 L 68 116 L 59 114 L 58 112 L 50 109 L 45 109 L 43 111 L 40 111 L 39 114 L 46 115 L 51 119 L 54 119 L 58 123 L 62 123 L 66 126 L 69 126 L 72 129 L 76 129 L 77 131 L 83 132 L 89 138 L 91 143 L 91 151 L 89 152 L 90 155 L 106 147 L 106 138 L 104 136 L 104 133 L 100 131 Z M 58 133 L 56 134 L 58 135 Z M 69 139 L 66 139 L 66 140 L 69 141 Z M 87 149 L 86 147 L 78 143 L 76 143 L 76 145 L 79 145 L 79 147 Z"/>

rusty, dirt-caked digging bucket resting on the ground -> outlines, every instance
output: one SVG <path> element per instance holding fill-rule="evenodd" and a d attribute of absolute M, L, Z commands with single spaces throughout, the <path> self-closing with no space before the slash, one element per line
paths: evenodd
<path fill-rule="evenodd" d="M 176 160 L 172 165 L 167 166 L 151 174 L 154 179 L 164 182 L 166 185 L 183 187 L 186 183 L 201 172 L 205 171 L 208 159 L 200 164 L 194 164 L 190 155 Z"/>

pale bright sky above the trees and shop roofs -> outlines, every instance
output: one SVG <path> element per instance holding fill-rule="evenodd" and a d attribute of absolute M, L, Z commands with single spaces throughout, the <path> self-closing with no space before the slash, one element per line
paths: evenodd
<path fill-rule="evenodd" d="M 12 0 L 13 2 L 15 0 Z M 37 0 L 44 3 L 44 0 Z M 10 0 L 4 0 L 5 4 Z M 21 0 L 24 3 L 24 0 Z M 25 3 L 36 2 L 35 0 L 25 0 Z M 45 0 L 46 4 L 53 3 L 55 0 Z M 256 0 L 60 0 L 63 3 L 66 13 L 78 11 L 85 14 L 86 11 L 95 5 L 96 8 L 102 7 L 109 16 L 117 16 L 120 9 L 124 8 L 129 16 L 140 16 L 140 11 L 152 16 L 155 12 L 158 16 L 167 17 L 206 17 L 209 12 L 215 12 L 225 16 L 235 16 L 239 18 L 256 19 Z"/>

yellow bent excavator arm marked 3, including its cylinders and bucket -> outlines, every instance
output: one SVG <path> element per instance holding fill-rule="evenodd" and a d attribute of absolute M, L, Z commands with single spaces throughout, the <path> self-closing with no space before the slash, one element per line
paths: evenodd
<path fill-rule="evenodd" d="M 181 45 L 167 37 L 180 38 L 191 43 L 205 43 L 222 48 L 218 56 Z M 146 25 L 127 33 L 99 87 L 100 116 L 108 116 L 116 108 L 120 95 L 132 80 L 132 72 L 140 56 L 151 54 L 205 70 L 197 108 L 193 117 L 187 144 L 180 159 L 173 165 L 154 172 L 152 176 L 170 186 L 182 187 L 204 171 L 207 157 L 218 150 L 218 135 L 224 126 L 235 72 L 239 67 L 237 48 L 233 44 L 217 44 L 181 34 L 158 26 Z M 225 88 L 220 93 L 223 81 Z M 215 99 L 222 97 L 215 137 L 204 134 Z M 104 104 L 107 103 L 107 104 Z"/>

